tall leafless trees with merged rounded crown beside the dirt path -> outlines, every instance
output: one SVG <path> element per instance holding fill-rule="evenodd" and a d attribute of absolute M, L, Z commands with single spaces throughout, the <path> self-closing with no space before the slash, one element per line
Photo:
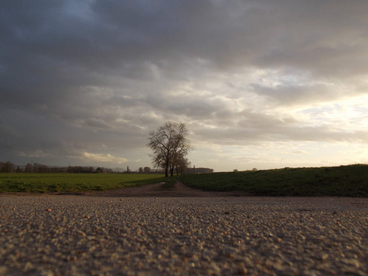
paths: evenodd
<path fill-rule="evenodd" d="M 163 168 L 165 170 L 165 177 L 174 174 L 174 167 L 178 155 L 187 155 L 194 150 L 195 146 L 190 144 L 188 137 L 188 128 L 184 123 L 168 121 L 156 131 L 148 132 L 149 143 L 146 145 L 152 150 L 149 156 L 152 159 L 154 167 Z"/>

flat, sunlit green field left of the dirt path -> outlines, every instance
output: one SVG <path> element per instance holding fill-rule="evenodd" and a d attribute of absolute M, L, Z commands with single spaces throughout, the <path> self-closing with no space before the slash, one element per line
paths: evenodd
<path fill-rule="evenodd" d="M 0 173 L 0 192 L 103 191 L 165 181 L 163 174 Z"/>

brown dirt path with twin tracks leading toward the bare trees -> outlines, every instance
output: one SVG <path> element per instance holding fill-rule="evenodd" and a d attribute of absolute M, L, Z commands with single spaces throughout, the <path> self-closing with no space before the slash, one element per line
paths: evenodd
<path fill-rule="evenodd" d="M 88 195 L 99 197 L 229 197 L 251 196 L 247 192 L 208 192 L 192 189 L 177 181 L 175 188 L 162 188 L 161 183 L 121 188 L 103 192 L 93 192 Z"/>

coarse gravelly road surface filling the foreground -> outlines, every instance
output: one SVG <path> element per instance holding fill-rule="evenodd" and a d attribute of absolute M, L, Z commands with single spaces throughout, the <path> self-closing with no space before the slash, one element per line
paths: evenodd
<path fill-rule="evenodd" d="M 0 275 L 367 275 L 367 204 L 0 196 Z"/>

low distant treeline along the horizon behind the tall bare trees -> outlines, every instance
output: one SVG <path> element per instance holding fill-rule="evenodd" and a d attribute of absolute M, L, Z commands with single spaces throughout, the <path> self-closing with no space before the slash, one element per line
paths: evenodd
<path fill-rule="evenodd" d="M 68 166 L 68 167 L 50 167 L 39 163 L 27 163 L 24 166 L 15 166 L 11 161 L 0 162 L 0 173 L 165 173 L 163 169 L 151 169 L 150 167 L 139 167 L 138 170 L 113 170 L 105 167 L 94 168 L 92 166 Z M 185 173 L 213 173 L 209 168 L 187 168 Z"/>

